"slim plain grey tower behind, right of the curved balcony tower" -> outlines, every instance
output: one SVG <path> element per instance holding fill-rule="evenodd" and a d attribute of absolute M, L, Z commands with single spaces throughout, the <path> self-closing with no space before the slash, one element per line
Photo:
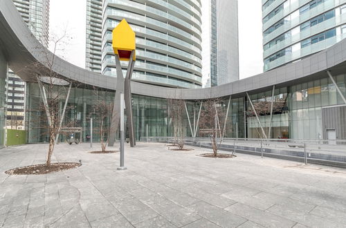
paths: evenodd
<path fill-rule="evenodd" d="M 210 85 L 239 80 L 238 1 L 210 0 Z"/>

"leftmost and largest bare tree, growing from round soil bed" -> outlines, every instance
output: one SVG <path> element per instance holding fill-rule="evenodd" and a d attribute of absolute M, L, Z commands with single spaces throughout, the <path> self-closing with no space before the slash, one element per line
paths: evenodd
<path fill-rule="evenodd" d="M 51 165 L 51 157 L 55 144 L 60 133 L 62 133 L 62 124 L 64 124 L 64 128 L 75 126 L 74 119 L 64 117 L 66 111 L 72 108 L 67 106 L 72 84 L 74 84 L 74 87 L 77 87 L 78 84 L 55 73 L 54 70 L 56 61 L 55 52 L 66 39 L 69 39 L 66 32 L 61 37 L 51 39 L 53 53 L 46 48 L 37 47 L 44 56 L 43 61 L 34 62 L 25 68 L 27 73 L 35 77 L 39 86 L 40 97 L 42 97 L 42 102 L 39 102 L 37 107 L 31 109 L 30 112 L 46 113 L 46 117 L 44 118 L 45 121 L 39 121 L 37 127 L 40 129 L 48 129 L 48 132 L 44 133 L 49 140 L 46 160 L 47 167 Z M 64 105 L 62 106 L 62 104 Z"/>

